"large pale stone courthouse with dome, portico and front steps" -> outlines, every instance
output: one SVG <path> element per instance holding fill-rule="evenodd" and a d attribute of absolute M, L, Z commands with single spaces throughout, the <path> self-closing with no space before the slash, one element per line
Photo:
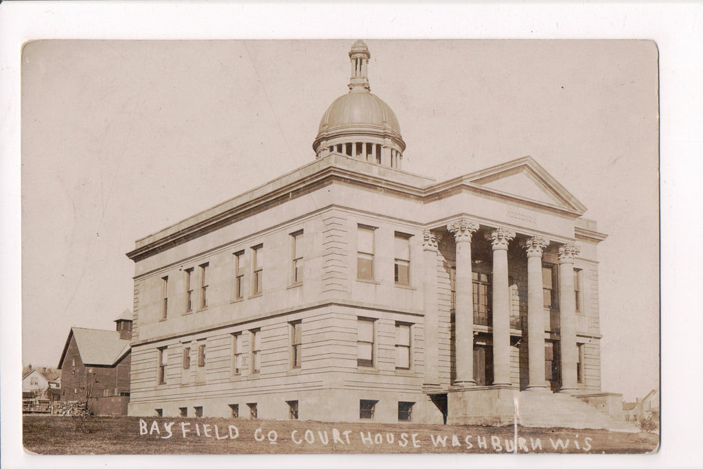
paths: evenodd
<path fill-rule="evenodd" d="M 404 171 L 369 57 L 356 41 L 309 164 L 127 254 L 129 413 L 612 424 L 605 235 L 530 157 L 441 182 Z"/>

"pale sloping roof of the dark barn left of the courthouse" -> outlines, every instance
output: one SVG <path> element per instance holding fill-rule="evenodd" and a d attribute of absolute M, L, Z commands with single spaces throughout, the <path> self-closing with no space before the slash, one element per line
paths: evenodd
<path fill-rule="evenodd" d="M 72 327 L 61 352 L 58 368 L 63 366 L 63 359 L 72 337 L 76 340 L 78 353 L 86 366 L 111 366 L 129 352 L 129 340 L 120 339 L 117 330 Z"/>

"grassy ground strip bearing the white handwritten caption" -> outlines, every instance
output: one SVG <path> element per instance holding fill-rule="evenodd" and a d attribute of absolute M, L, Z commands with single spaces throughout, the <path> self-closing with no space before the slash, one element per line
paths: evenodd
<path fill-rule="evenodd" d="M 659 435 L 568 428 L 321 423 L 239 418 L 24 416 L 37 454 L 647 453 Z M 169 425 L 170 424 L 170 425 Z M 217 426 L 217 428 L 216 428 Z M 158 432 L 157 432 L 158 430 Z M 170 435 L 170 436 L 169 436 Z M 363 435 L 363 436 L 362 436 Z"/>

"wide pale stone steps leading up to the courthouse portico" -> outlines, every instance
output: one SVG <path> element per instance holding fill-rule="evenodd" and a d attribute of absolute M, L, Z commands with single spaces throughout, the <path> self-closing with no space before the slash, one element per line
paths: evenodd
<path fill-rule="evenodd" d="M 515 393 L 517 423 L 523 427 L 602 428 L 639 432 L 631 423 L 615 420 L 569 394 L 541 391 Z"/>

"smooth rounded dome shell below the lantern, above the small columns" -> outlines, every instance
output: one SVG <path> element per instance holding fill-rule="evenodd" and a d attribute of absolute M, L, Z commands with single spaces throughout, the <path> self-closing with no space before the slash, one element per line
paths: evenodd
<path fill-rule="evenodd" d="M 389 105 L 372 93 L 349 93 L 335 99 L 320 121 L 318 131 L 330 131 L 340 126 L 370 125 L 390 127 L 400 134 L 400 124 Z"/>

